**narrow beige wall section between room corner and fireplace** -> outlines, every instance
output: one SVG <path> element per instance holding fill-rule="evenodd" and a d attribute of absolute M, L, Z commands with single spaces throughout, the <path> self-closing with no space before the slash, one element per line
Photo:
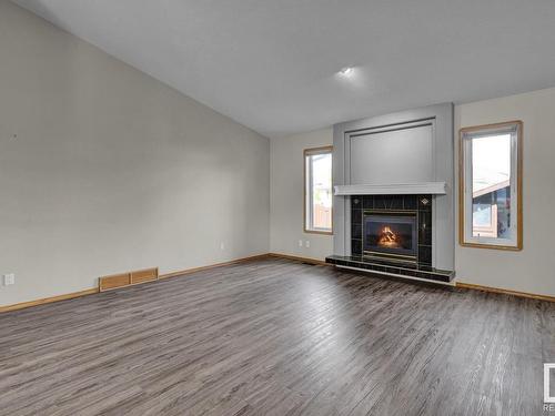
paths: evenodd
<path fill-rule="evenodd" d="M 333 236 L 304 232 L 303 150 L 333 144 L 333 129 L 271 140 L 270 251 L 324 260 L 333 254 Z M 299 240 L 303 246 L 299 246 Z M 310 247 L 304 243 L 309 241 Z"/>

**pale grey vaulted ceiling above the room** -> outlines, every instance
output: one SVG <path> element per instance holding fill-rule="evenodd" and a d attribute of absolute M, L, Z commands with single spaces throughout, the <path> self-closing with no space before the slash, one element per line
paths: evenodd
<path fill-rule="evenodd" d="M 555 85 L 554 0 L 16 2 L 269 136 Z"/>

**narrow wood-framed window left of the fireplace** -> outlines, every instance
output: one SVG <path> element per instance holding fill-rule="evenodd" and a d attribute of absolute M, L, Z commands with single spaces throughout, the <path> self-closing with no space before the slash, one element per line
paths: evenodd
<path fill-rule="evenodd" d="M 304 231 L 332 233 L 332 148 L 304 151 Z"/>

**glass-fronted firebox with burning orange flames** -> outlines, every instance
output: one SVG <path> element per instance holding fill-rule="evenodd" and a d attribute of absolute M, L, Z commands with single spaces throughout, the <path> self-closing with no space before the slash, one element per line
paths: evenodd
<path fill-rule="evenodd" d="M 416 211 L 364 211 L 362 245 L 370 257 L 417 262 Z"/>

